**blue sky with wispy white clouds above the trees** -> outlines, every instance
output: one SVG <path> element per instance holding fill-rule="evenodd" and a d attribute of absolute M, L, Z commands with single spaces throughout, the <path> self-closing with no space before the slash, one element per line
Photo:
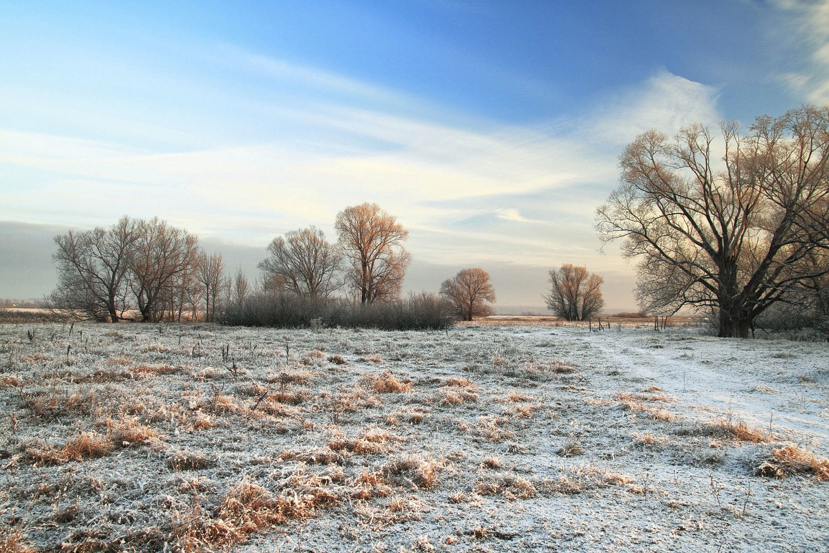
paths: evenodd
<path fill-rule="evenodd" d="M 829 0 L 3 2 L 0 297 L 52 237 L 158 216 L 253 279 L 265 247 L 376 202 L 405 289 L 492 274 L 543 306 L 560 264 L 633 309 L 594 212 L 647 129 L 829 104 Z"/>

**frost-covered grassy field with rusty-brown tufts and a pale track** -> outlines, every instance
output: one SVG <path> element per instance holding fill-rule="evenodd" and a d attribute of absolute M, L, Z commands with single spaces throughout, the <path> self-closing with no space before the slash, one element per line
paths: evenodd
<path fill-rule="evenodd" d="M 0 551 L 829 551 L 827 353 L 3 324 Z"/>

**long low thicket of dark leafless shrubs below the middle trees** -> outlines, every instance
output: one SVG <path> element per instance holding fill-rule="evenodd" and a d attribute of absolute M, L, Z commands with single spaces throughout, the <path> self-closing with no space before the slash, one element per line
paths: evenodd
<path fill-rule="evenodd" d="M 258 293 L 242 303 L 231 304 L 221 322 L 231 326 L 295 328 L 310 327 L 314 319 L 320 319 L 326 327 L 425 330 L 451 326 L 452 313 L 452 306 L 434 293 L 369 305 L 355 305 L 341 298 Z"/>

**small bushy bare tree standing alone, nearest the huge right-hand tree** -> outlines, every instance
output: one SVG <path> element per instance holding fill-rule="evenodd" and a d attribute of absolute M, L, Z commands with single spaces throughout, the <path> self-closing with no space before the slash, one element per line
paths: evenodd
<path fill-rule="evenodd" d="M 543 298 L 556 317 L 586 321 L 601 313 L 604 307 L 602 277 L 570 263 L 561 265 L 558 270 L 550 269 L 549 274 L 550 292 Z"/>

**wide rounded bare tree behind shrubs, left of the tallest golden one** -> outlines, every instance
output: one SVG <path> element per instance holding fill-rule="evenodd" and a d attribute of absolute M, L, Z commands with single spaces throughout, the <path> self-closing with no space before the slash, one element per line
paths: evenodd
<path fill-rule="evenodd" d="M 274 238 L 268 252 L 259 269 L 270 287 L 281 284 L 288 293 L 327 297 L 342 286 L 338 279 L 342 255 L 315 226 Z"/>

